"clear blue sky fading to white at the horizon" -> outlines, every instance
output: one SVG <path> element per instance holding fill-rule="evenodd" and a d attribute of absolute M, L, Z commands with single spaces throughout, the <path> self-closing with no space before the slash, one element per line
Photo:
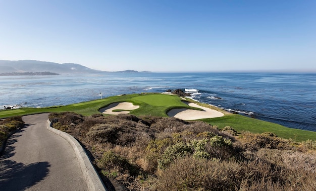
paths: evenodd
<path fill-rule="evenodd" d="M 0 59 L 316 71 L 316 1 L 0 0 Z"/>

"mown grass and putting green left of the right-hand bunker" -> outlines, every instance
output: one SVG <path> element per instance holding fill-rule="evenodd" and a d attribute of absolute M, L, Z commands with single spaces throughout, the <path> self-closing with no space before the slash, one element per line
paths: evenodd
<path fill-rule="evenodd" d="M 89 102 L 82 102 L 78 104 L 71 104 L 67 106 L 54 106 L 47 108 L 22 108 L 14 110 L 1 110 L 0 119 L 16 115 L 30 115 L 46 112 L 76 112 L 84 116 L 97 114 L 99 109 L 106 107 L 112 103 L 117 102 L 131 102 L 134 105 L 139 105 L 140 108 L 131 111 L 133 115 L 153 115 L 168 117 L 167 111 L 173 108 L 190 108 L 181 102 L 178 96 L 149 93 L 149 94 L 128 94 L 123 96 L 113 96 L 102 100 L 94 100 Z"/>

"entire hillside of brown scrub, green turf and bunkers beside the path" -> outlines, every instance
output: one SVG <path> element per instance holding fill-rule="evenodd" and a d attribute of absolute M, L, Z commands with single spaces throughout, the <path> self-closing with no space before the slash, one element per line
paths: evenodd
<path fill-rule="evenodd" d="M 0 118 L 43 112 L 89 150 L 108 190 L 316 187 L 316 132 L 162 93 L 5 110 Z"/>

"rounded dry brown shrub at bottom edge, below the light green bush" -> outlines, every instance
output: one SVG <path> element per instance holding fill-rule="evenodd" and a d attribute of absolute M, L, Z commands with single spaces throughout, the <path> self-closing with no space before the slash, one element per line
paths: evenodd
<path fill-rule="evenodd" d="M 179 158 L 157 177 L 156 190 L 235 190 L 243 171 L 235 161 Z"/>

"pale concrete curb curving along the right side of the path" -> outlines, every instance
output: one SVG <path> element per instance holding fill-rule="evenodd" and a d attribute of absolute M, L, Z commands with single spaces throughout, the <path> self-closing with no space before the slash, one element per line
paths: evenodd
<path fill-rule="evenodd" d="M 86 180 L 87 186 L 90 190 L 104 190 L 107 191 L 106 186 L 104 185 L 103 181 L 101 180 L 100 176 L 98 175 L 97 171 L 93 167 L 90 158 L 88 157 L 85 150 L 79 144 L 79 142 L 68 133 L 60 131 L 58 129 L 50 127 L 50 121 L 47 120 L 47 130 L 55 133 L 62 138 L 64 138 L 73 148 L 76 157 L 79 161 L 79 165 L 81 171 L 83 173 L 84 179 Z"/>

